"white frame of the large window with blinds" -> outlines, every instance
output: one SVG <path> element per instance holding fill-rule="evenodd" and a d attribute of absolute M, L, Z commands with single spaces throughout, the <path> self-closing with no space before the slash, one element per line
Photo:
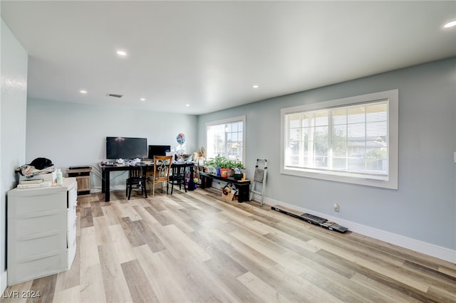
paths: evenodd
<path fill-rule="evenodd" d="M 285 147 L 287 139 L 286 115 L 309 112 L 316 110 L 328 110 L 332 107 L 344 107 L 366 102 L 386 100 L 388 102 L 388 174 L 384 178 L 378 176 L 356 174 L 348 171 L 318 170 L 310 168 L 298 168 L 285 166 Z M 316 102 L 296 107 L 281 109 L 281 142 L 280 142 L 280 173 L 292 176 L 303 176 L 313 179 L 323 179 L 349 184 L 359 184 L 365 186 L 375 186 L 380 188 L 398 189 L 398 90 L 387 90 L 374 92 L 366 95 L 346 97 L 337 100 Z"/>

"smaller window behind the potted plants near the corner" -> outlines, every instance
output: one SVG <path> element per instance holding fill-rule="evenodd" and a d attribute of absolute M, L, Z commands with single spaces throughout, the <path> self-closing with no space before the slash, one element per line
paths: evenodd
<path fill-rule="evenodd" d="M 206 123 L 207 159 L 224 156 L 244 160 L 246 117 L 234 117 Z"/>

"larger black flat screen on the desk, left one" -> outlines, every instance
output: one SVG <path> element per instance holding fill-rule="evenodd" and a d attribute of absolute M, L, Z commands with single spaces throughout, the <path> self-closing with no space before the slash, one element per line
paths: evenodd
<path fill-rule="evenodd" d="M 106 159 L 147 157 L 147 138 L 106 137 Z"/>

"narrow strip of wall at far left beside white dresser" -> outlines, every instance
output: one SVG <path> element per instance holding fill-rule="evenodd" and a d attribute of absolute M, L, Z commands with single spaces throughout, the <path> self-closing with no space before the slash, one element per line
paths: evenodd
<path fill-rule="evenodd" d="M 6 287 L 6 193 L 26 154 L 27 53 L 1 20 L 0 292 Z"/>

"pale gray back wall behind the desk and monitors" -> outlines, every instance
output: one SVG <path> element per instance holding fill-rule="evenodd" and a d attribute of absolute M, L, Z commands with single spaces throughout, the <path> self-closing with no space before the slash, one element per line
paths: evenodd
<path fill-rule="evenodd" d="M 105 160 L 105 137 L 142 137 L 147 144 L 177 147 L 177 134 L 187 136 L 187 151 L 197 150 L 197 116 L 29 99 L 26 163 L 43 156 L 61 168 L 93 166 L 91 183 L 100 188 L 97 164 Z M 125 188 L 125 172 L 112 174 Z M 120 187 L 122 185 L 122 187 Z"/>

